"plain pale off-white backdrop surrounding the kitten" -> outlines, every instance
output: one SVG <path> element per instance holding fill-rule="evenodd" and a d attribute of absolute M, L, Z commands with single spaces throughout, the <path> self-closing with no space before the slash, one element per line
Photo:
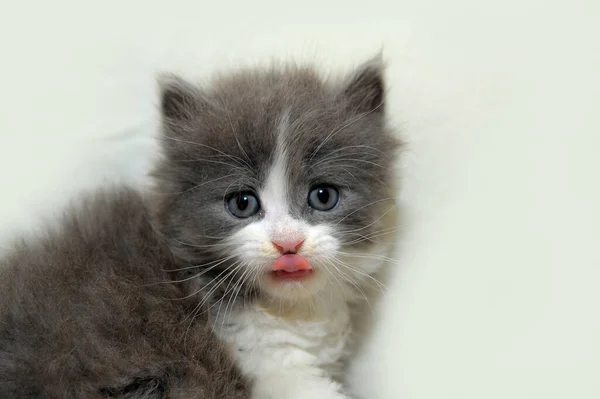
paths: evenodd
<path fill-rule="evenodd" d="M 157 72 L 337 73 L 381 49 L 405 219 L 354 385 L 600 398 L 597 0 L 3 1 L 0 242 L 143 178 Z"/>

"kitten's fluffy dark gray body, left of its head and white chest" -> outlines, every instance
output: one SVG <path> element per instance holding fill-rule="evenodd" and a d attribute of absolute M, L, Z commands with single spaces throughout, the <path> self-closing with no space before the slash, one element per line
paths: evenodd
<path fill-rule="evenodd" d="M 0 262 L 0 397 L 248 397 L 196 302 L 165 284 L 149 220 L 134 191 L 102 191 Z"/>

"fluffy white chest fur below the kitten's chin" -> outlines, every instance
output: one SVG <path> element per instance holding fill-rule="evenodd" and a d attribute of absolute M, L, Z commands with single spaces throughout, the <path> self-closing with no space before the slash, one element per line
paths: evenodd
<path fill-rule="evenodd" d="M 322 295 L 287 307 L 258 301 L 222 313 L 215 330 L 255 381 L 254 399 L 345 397 L 335 382 L 351 332 L 342 298 Z"/>

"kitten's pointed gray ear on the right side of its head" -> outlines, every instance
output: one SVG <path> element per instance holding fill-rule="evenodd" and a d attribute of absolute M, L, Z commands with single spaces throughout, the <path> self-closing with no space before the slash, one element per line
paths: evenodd
<path fill-rule="evenodd" d="M 378 54 L 362 64 L 350 76 L 344 85 L 343 96 L 353 111 L 383 113 L 385 100 L 383 70 L 382 55 Z"/>

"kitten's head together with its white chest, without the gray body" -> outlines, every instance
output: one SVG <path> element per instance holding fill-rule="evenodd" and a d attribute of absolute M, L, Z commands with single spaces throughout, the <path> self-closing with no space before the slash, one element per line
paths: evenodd
<path fill-rule="evenodd" d="M 343 82 L 310 68 L 162 84 L 158 230 L 254 398 L 344 398 L 353 304 L 396 230 L 398 140 L 382 63 Z"/>

